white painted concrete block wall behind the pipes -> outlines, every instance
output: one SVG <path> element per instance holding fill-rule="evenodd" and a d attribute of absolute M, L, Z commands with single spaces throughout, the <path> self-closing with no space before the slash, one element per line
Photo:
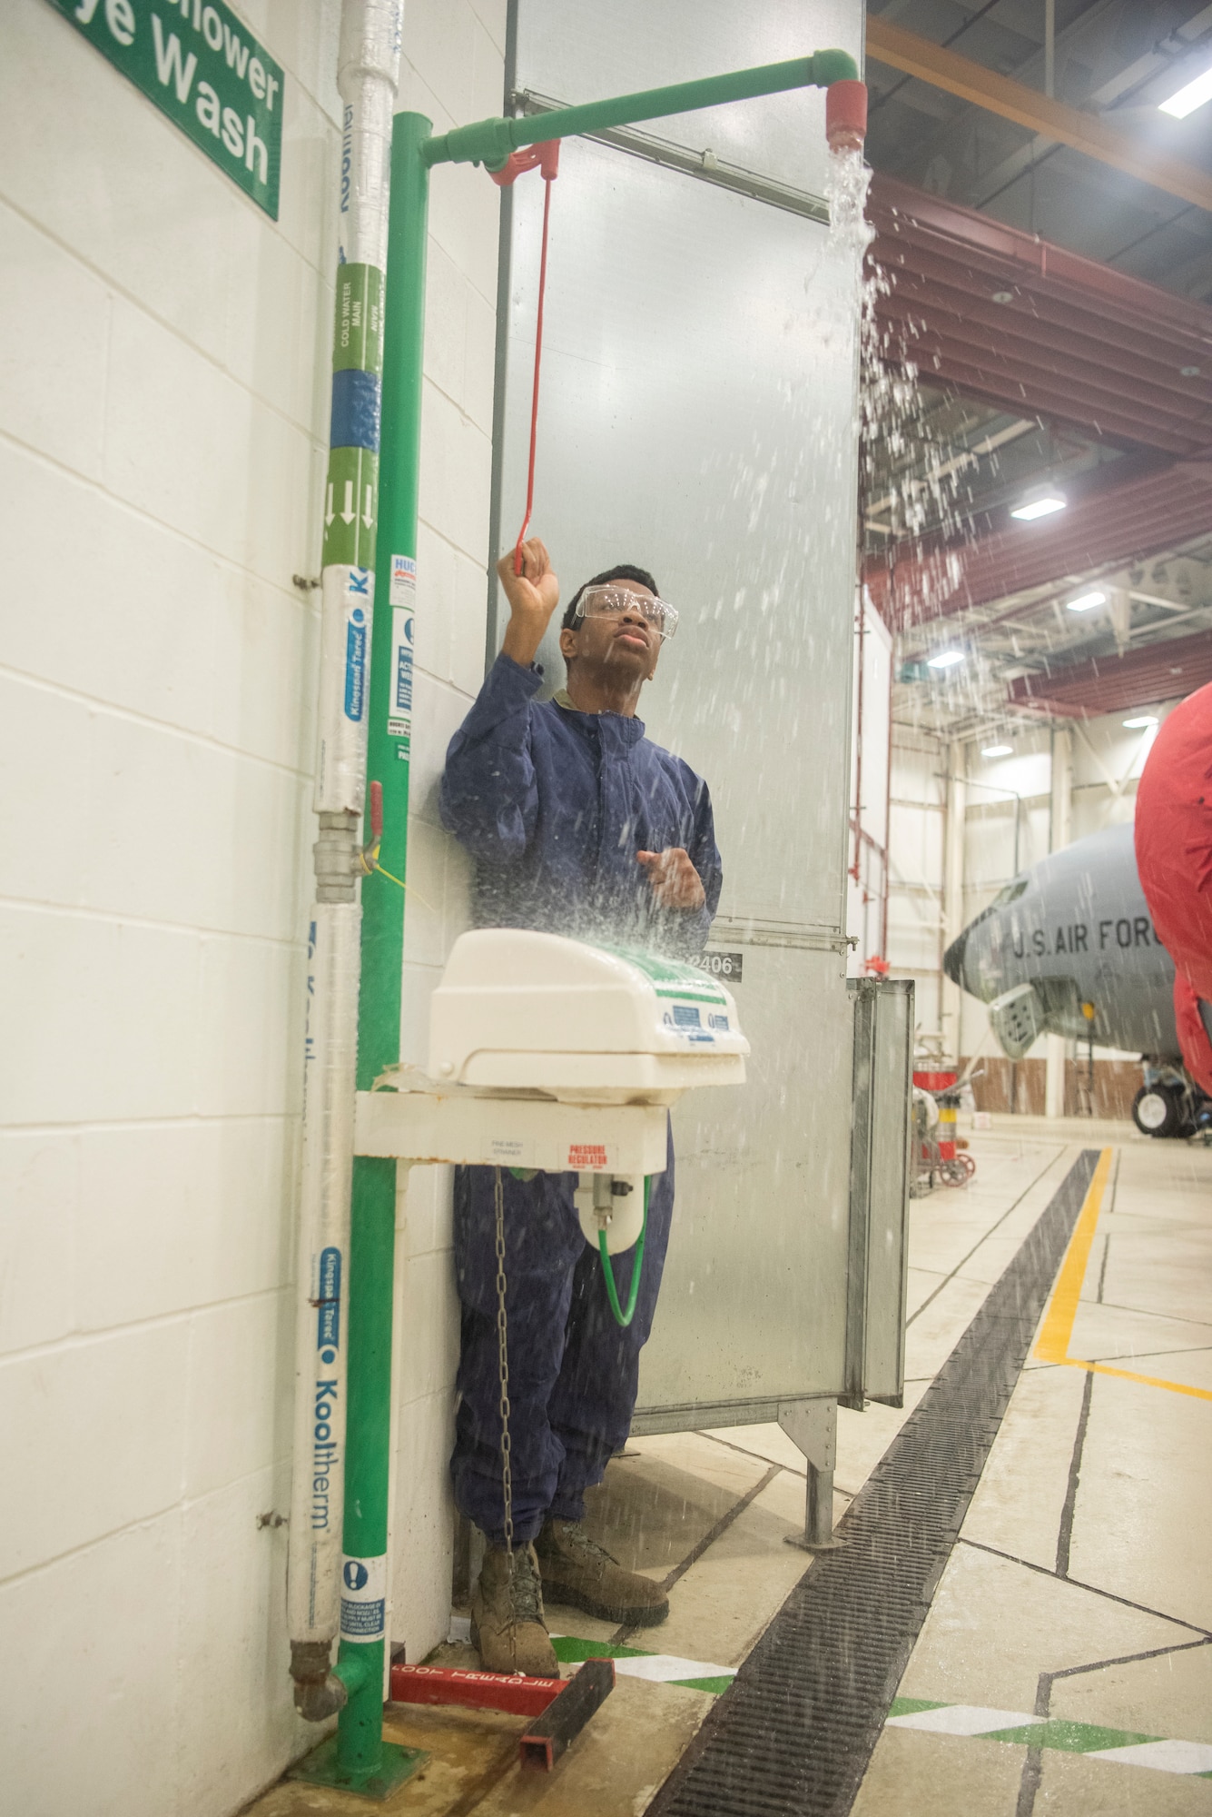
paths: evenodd
<path fill-rule="evenodd" d="M 45 0 L 4 9 L 0 1392 L 24 1488 L 0 1802 L 22 1817 L 221 1817 L 314 1739 L 258 1515 L 288 1494 L 316 690 L 292 576 L 319 560 L 339 0 L 236 9 L 287 71 L 278 223 Z M 503 45 L 503 0 L 410 4 L 401 104 L 499 111 Z M 410 1030 L 466 899 L 434 781 L 483 670 L 497 205 L 481 173 L 435 176 Z M 430 1170 L 403 1243 L 410 1652 L 448 1592 L 448 1203 Z"/>

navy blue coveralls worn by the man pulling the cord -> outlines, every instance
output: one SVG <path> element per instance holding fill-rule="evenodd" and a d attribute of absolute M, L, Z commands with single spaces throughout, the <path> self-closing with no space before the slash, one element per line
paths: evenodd
<path fill-rule="evenodd" d="M 535 701 L 541 669 L 499 656 L 446 752 L 441 812 L 475 861 L 477 927 L 530 927 L 582 939 L 693 954 L 720 898 L 711 799 L 688 763 L 644 738 L 640 720 Z M 662 910 L 637 850 L 684 847 L 706 903 Z M 581 1234 L 575 1174 L 503 1174 L 513 1537 L 548 1515 L 584 1517 L 626 1441 L 639 1352 L 651 1330 L 673 1212 L 673 1141 L 653 1179 L 640 1292 L 621 1328 L 601 1256 Z M 459 1412 L 450 1461 L 455 1504 L 504 1541 L 494 1248 L 494 1168 L 455 1174 L 455 1272 L 461 1301 Z M 615 1257 L 619 1294 L 633 1250 Z"/>

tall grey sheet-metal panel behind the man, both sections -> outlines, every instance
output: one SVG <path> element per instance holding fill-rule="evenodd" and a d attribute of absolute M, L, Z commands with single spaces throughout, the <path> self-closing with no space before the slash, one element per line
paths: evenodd
<path fill-rule="evenodd" d="M 860 5 L 811 0 L 521 0 L 515 85 L 579 102 L 827 44 L 860 53 Z M 651 125 L 686 136 L 686 122 Z M 822 182 L 820 96 L 722 109 L 699 129 L 691 144 L 758 174 Z M 504 545 L 526 492 L 541 211 L 542 184 L 521 178 L 497 422 Z M 637 1428 L 708 1410 L 773 1417 L 780 1399 L 844 1386 L 855 396 L 853 254 L 826 227 L 564 144 L 533 531 L 564 598 L 635 561 L 682 612 L 642 716 L 711 787 L 726 878 L 713 945 L 744 952 L 737 1003 L 753 1043 L 744 1090 L 704 1090 L 675 1112 L 675 1232 Z M 553 690 L 553 632 L 541 661 Z"/>

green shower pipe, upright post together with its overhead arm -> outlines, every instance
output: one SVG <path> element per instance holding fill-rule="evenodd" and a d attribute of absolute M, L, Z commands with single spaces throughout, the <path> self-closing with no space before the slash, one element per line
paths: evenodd
<path fill-rule="evenodd" d="M 767 64 L 702 82 L 650 89 L 586 107 L 568 107 L 539 120 L 483 120 L 432 138 L 432 124 L 399 113 L 392 136 L 392 200 L 386 254 L 383 333 L 383 431 L 379 451 L 379 531 L 376 543 L 376 612 L 370 663 L 368 779 L 383 785 L 381 861 L 405 876 L 408 838 L 410 736 L 401 732 L 397 685 L 399 638 L 396 589 L 408 592 L 417 554 L 417 478 L 421 452 L 421 382 L 425 352 L 425 234 L 428 171 L 443 162 L 481 162 L 499 169 L 519 145 L 662 114 L 691 113 L 724 102 L 786 89 L 853 82 L 858 71 L 845 51 L 818 51 L 786 64 Z M 401 558 L 405 571 L 401 572 Z M 412 567 L 408 567 L 412 565 Z M 408 605 L 412 601 L 408 600 Z M 385 1067 L 399 1061 L 405 916 L 396 883 L 372 872 L 363 881 L 361 998 L 357 1021 L 357 1090 L 368 1090 Z M 354 1159 L 350 1297 L 348 1297 L 348 1425 L 345 1466 L 345 1572 L 365 1570 L 363 1595 L 381 1584 L 386 1599 L 388 1470 L 392 1448 L 392 1288 L 396 1257 L 396 1163 Z M 633 1286 L 639 1285 L 639 1265 Z M 613 1279 L 611 1279 L 613 1286 Z M 633 1296 L 628 1296 L 630 1299 Z M 626 1314 L 624 1314 L 626 1316 Z M 350 1586 L 352 1588 L 352 1586 Z M 357 1604 L 352 1604 L 357 1612 Z M 374 1612 L 374 1601 L 361 1610 Z M 347 1703 L 337 1719 L 334 1772 L 327 1782 L 383 1797 L 412 1764 L 408 1750 L 383 1743 L 386 1626 L 383 1610 L 350 1617 L 363 1635 L 347 1632 L 334 1677 Z M 372 1632 L 374 1630 L 374 1632 Z"/>

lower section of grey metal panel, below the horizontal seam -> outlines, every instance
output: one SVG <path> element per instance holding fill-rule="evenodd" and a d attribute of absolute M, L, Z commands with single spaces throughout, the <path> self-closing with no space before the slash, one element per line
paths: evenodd
<path fill-rule="evenodd" d="M 842 959 L 740 950 L 749 1079 L 691 1092 L 673 1112 L 677 1212 L 637 1430 L 775 1419 L 778 1401 L 842 1385 L 851 1081 Z"/>

